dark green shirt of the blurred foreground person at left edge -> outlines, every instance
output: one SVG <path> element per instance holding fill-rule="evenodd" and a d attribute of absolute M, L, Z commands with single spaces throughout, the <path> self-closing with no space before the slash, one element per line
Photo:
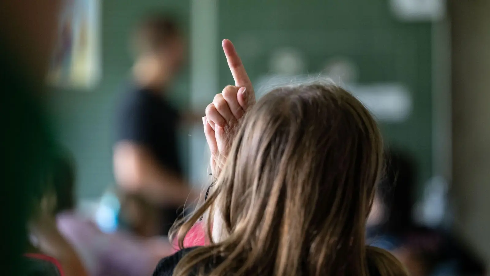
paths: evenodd
<path fill-rule="evenodd" d="M 0 217 L 5 225 L 0 241 L 0 275 L 23 275 L 22 254 L 28 244 L 27 221 L 41 198 L 51 154 L 52 133 L 38 101 L 44 82 L 28 74 L 21 49 L 0 37 Z"/>

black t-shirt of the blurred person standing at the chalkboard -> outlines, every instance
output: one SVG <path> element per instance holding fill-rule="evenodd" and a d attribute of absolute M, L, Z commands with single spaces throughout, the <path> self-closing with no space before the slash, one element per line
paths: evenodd
<path fill-rule="evenodd" d="M 133 88 L 118 110 L 117 141 L 144 146 L 162 167 L 182 176 L 177 144 L 179 120 L 178 111 L 160 91 Z M 161 234 L 168 233 L 178 213 L 177 208 L 161 210 Z"/>

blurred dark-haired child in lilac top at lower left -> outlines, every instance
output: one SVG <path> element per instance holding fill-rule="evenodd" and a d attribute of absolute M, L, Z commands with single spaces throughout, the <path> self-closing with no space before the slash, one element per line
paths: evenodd
<path fill-rule="evenodd" d="M 101 232 L 90 217 L 75 210 L 75 171 L 71 154 L 67 150 L 58 150 L 53 158 L 51 174 L 54 192 L 54 197 L 51 197 L 54 207 L 51 209 L 56 219 L 54 220 L 54 216 L 48 217 L 48 221 L 53 222 L 49 225 L 54 229 L 47 233 L 59 235 L 55 236 L 55 241 L 66 239 L 70 247 L 73 246 L 90 276 L 150 275 L 158 261 L 172 253 L 173 248 L 168 240 L 142 239 L 124 232 Z M 53 243 L 47 239 L 50 236 L 44 235 L 38 242 L 52 245 Z M 54 253 L 62 252 L 59 248 L 48 249 Z M 73 255 L 73 252 L 68 253 Z M 68 253 L 65 255 L 68 256 Z"/>

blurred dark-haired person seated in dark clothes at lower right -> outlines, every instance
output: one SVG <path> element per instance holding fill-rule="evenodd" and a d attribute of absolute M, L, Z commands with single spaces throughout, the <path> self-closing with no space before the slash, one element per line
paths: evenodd
<path fill-rule="evenodd" d="M 415 220 L 417 172 L 409 155 L 393 149 L 387 175 L 368 218 L 368 241 L 390 250 L 412 276 L 485 275 L 485 266 L 451 233 Z"/>

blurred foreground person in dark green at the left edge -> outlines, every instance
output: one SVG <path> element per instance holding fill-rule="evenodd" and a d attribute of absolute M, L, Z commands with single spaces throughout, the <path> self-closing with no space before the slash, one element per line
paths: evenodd
<path fill-rule="evenodd" d="M 49 256 L 23 256 L 27 222 L 42 193 L 51 133 L 37 98 L 44 90 L 56 41 L 61 0 L 0 1 L 1 275 L 62 273 Z"/>

